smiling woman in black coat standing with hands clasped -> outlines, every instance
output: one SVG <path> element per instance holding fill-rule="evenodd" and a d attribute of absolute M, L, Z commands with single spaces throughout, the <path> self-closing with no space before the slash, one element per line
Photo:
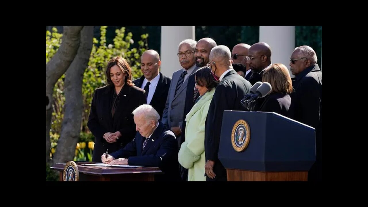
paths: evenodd
<path fill-rule="evenodd" d="M 122 57 L 107 63 L 108 85 L 96 89 L 91 103 L 88 128 L 95 136 L 93 162 L 101 162 L 103 153 L 117 151 L 135 136 L 132 111 L 146 103 L 145 91 L 132 83 L 131 69 Z"/>

